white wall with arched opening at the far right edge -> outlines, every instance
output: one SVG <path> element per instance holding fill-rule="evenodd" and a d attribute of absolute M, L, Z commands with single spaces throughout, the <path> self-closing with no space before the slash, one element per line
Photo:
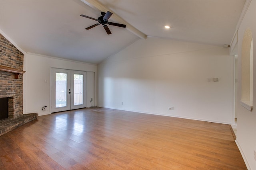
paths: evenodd
<path fill-rule="evenodd" d="M 256 170 L 254 150 L 256 151 L 256 1 L 250 6 L 238 29 L 238 94 L 237 94 L 237 139 L 236 142 L 248 169 Z M 250 27 L 253 39 L 253 110 L 249 111 L 241 106 L 241 53 L 244 31 Z"/>

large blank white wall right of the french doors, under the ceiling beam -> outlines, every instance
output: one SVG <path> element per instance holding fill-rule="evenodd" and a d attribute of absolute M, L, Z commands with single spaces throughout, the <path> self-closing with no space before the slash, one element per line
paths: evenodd
<path fill-rule="evenodd" d="M 214 77 L 220 81 L 208 82 Z M 224 47 L 140 39 L 98 65 L 98 106 L 233 124 L 234 56 Z"/>

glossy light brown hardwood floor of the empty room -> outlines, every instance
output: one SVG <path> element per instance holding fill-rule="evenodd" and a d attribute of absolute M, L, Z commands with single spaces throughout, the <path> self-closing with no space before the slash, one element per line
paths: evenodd
<path fill-rule="evenodd" d="M 0 137 L 0 169 L 245 170 L 229 125 L 104 108 L 39 116 Z"/>

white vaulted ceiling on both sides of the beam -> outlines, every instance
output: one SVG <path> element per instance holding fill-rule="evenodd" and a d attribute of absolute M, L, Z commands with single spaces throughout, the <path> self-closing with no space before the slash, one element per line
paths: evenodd
<path fill-rule="evenodd" d="M 84 0 L 83 0 L 84 1 Z M 86 1 L 84 1 L 86 2 Z M 0 29 L 30 53 L 98 64 L 140 37 L 98 23 L 99 6 L 80 0 L 0 0 Z M 94 1 L 95 2 L 95 1 Z M 245 0 L 100 0 L 110 22 L 131 25 L 148 37 L 230 44 Z M 104 11 L 106 12 L 106 11 Z M 123 20 L 118 20 L 118 16 Z M 164 29 L 170 25 L 171 29 Z"/>

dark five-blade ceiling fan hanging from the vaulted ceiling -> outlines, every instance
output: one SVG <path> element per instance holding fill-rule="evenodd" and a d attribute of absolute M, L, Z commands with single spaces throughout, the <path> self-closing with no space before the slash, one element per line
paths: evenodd
<path fill-rule="evenodd" d="M 114 25 L 114 26 L 123 27 L 123 28 L 126 27 L 126 25 L 121 24 L 121 23 L 108 22 L 108 19 L 109 19 L 110 16 L 112 16 L 112 14 L 113 14 L 112 12 L 109 12 L 109 11 L 108 11 L 107 13 L 101 12 L 100 14 L 101 14 L 101 16 L 98 18 L 98 20 L 95 19 L 95 18 L 89 17 L 89 16 L 85 16 L 85 15 L 83 15 L 83 14 L 80 15 L 80 16 L 82 16 L 82 17 L 89 18 L 89 19 L 91 19 L 91 20 L 95 20 L 95 21 L 98 21 L 98 22 L 99 22 L 99 23 L 96 23 L 96 24 L 94 24 L 94 25 L 92 25 L 92 26 L 90 26 L 90 27 L 87 27 L 86 29 L 91 29 L 91 28 L 93 28 L 93 27 L 96 27 L 96 26 L 102 24 L 103 27 L 104 27 L 104 29 L 106 30 L 107 34 L 111 34 L 111 31 L 110 31 L 110 29 L 108 28 L 108 25 Z M 106 25 L 106 24 L 108 24 L 108 25 Z"/>

